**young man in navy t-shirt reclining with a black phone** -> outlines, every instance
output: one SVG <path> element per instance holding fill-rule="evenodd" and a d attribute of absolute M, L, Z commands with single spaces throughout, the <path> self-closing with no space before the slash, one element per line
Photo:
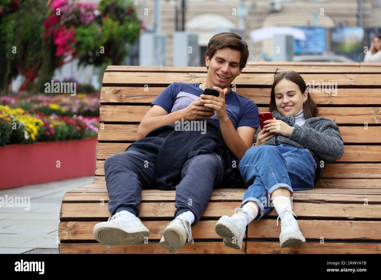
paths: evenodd
<path fill-rule="evenodd" d="M 230 160 L 226 160 L 225 151 L 240 160 L 253 145 L 259 126 L 255 103 L 230 90 L 247 59 L 248 46 L 239 35 L 224 32 L 213 36 L 205 54 L 206 82 L 169 85 L 142 119 L 139 140 L 124 153 L 106 159 L 105 179 L 112 217 L 94 226 L 98 242 L 122 245 L 144 241 L 150 232 L 138 218 L 138 205 L 142 189 L 156 185 L 159 189 L 176 190 L 174 219 L 164 230 L 160 245 L 176 251 L 185 244 L 187 236 L 188 242 L 193 243 L 191 226 L 197 224 L 207 208 L 213 188 L 223 181 Z M 205 88 L 214 88 L 219 96 L 203 95 Z M 177 134 L 168 131 L 173 130 L 168 125 L 176 121 L 199 119 L 212 123 L 208 124 L 206 136 L 195 139 L 195 134 L 185 134 L 186 131 Z M 218 138 L 223 138 L 230 152 Z M 176 167 L 179 170 L 173 171 Z M 178 172 L 179 178 L 169 173 L 162 176 L 166 170 Z M 178 184 L 174 184 L 177 179 Z"/>

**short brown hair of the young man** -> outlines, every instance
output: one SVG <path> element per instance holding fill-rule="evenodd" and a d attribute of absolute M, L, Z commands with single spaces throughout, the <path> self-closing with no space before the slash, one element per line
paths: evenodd
<path fill-rule="evenodd" d="M 229 47 L 233 50 L 241 52 L 241 59 L 239 62 L 239 69 L 243 69 L 246 66 L 247 59 L 249 57 L 249 49 L 247 43 L 242 40 L 240 35 L 231 32 L 222 32 L 214 35 L 208 42 L 208 50 L 205 55 L 209 56 L 211 60 L 220 48 Z M 207 67 L 208 69 L 209 67 Z"/>

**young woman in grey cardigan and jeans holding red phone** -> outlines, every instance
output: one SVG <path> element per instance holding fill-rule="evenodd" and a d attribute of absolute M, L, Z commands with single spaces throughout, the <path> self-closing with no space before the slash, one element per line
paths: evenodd
<path fill-rule="evenodd" d="M 298 73 L 285 71 L 275 77 L 269 111 L 274 119 L 265 121 L 263 130 L 257 129 L 255 143 L 239 163 L 247 186 L 241 206 L 233 216 L 222 216 L 215 227 L 231 248 L 241 249 L 246 226 L 272 207 L 281 221 L 280 246 L 305 242 L 290 196 L 294 190 L 313 189 L 320 160 L 318 163 L 312 154 L 327 162 L 344 154 L 338 126 L 328 118 L 316 117 L 317 106 Z"/>

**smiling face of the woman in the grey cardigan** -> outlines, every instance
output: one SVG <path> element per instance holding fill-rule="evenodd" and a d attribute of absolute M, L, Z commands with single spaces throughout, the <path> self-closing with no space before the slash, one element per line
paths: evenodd
<path fill-rule="evenodd" d="M 290 80 L 282 79 L 274 88 L 275 104 L 280 114 L 296 115 L 303 109 L 303 102 L 307 100 L 308 93 L 302 94 L 298 85 Z"/>

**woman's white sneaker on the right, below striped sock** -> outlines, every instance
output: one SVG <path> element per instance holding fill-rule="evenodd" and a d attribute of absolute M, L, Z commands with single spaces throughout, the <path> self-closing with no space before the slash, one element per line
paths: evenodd
<path fill-rule="evenodd" d="M 285 213 L 285 211 L 289 211 L 295 215 L 295 213 L 290 209 L 283 210 L 277 218 L 277 226 L 278 219 L 283 213 Z M 282 248 L 292 247 L 298 245 L 299 243 L 306 242 L 306 238 L 303 237 L 303 234 L 299 230 L 298 221 L 296 221 L 294 216 L 287 215 L 283 219 L 280 219 L 280 227 L 281 232 L 279 235 L 279 241 Z"/>

